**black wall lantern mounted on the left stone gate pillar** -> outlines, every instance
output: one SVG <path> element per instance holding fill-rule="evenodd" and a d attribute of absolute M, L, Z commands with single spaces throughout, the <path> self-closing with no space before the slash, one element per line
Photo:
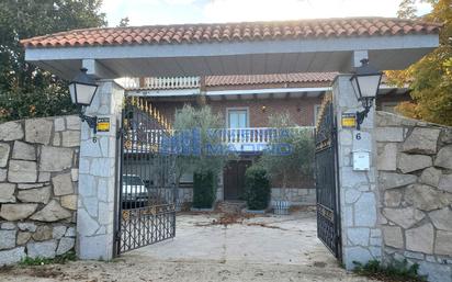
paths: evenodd
<path fill-rule="evenodd" d="M 80 74 L 78 74 L 77 77 L 75 77 L 69 83 L 69 92 L 72 103 L 81 106 L 79 114 L 81 121 L 87 122 L 88 126 L 93 129 L 94 137 L 92 140 L 95 143 L 98 117 L 84 115 L 84 108 L 91 105 L 92 99 L 98 91 L 98 84 L 95 83 L 95 80 L 87 74 L 87 68 L 80 69 Z"/>

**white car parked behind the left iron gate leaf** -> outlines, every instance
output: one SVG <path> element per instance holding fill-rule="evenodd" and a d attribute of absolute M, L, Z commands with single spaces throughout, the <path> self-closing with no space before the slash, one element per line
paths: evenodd
<path fill-rule="evenodd" d="M 148 191 L 143 180 L 135 174 L 123 174 L 123 208 L 143 207 L 148 202 Z"/>

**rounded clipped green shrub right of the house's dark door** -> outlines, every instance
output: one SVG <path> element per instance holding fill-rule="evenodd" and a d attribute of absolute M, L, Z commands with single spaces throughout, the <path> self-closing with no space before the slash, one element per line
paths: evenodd
<path fill-rule="evenodd" d="M 270 179 L 261 166 L 251 166 L 245 172 L 245 196 L 249 210 L 265 210 L 271 194 Z"/>

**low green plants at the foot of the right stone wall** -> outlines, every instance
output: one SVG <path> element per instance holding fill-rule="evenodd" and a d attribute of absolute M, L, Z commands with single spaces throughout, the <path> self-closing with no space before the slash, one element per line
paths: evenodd
<path fill-rule="evenodd" d="M 354 273 L 374 278 L 381 281 L 403 281 L 403 282 L 426 282 L 427 277 L 418 273 L 419 264 L 408 266 L 407 260 L 394 261 L 392 264 L 384 266 L 377 260 L 371 260 L 365 264 L 353 261 L 355 264 Z"/>

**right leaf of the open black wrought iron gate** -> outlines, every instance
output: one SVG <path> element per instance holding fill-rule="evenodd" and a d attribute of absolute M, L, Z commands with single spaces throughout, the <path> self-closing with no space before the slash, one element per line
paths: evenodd
<path fill-rule="evenodd" d="M 341 259 L 336 119 L 330 94 L 325 97 L 318 119 L 315 154 L 317 237 L 336 258 Z"/>

